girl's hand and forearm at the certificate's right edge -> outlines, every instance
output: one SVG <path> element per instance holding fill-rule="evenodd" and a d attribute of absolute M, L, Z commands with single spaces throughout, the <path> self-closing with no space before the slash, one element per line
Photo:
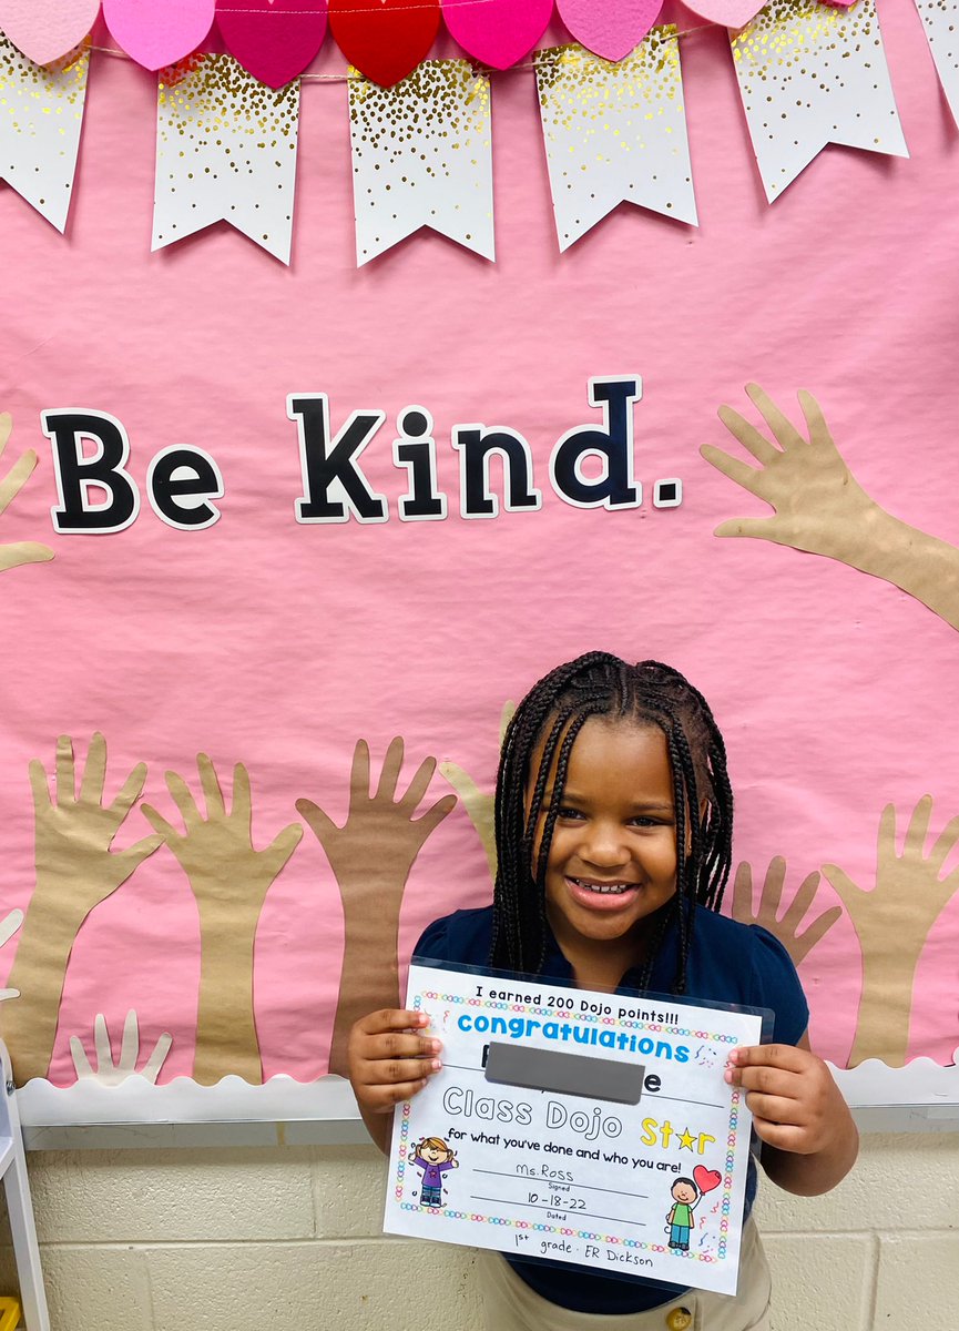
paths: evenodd
<path fill-rule="evenodd" d="M 734 1049 L 725 1078 L 742 1086 L 766 1173 L 790 1193 L 827 1193 L 858 1151 L 853 1115 L 821 1058 L 795 1045 Z"/>

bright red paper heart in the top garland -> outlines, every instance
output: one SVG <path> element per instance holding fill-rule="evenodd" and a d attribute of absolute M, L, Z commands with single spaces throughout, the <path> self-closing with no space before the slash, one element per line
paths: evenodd
<path fill-rule="evenodd" d="M 439 0 L 330 0 L 330 27 L 350 64 L 392 88 L 428 55 Z"/>

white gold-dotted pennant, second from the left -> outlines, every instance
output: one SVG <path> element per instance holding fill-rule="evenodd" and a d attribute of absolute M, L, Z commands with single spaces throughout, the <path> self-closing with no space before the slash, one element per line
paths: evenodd
<path fill-rule="evenodd" d="M 233 56 L 162 71 L 153 249 L 225 221 L 290 262 L 299 80 L 274 89 Z"/>

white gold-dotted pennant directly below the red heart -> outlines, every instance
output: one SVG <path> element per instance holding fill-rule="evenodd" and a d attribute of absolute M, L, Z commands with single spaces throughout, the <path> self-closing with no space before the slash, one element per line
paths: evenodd
<path fill-rule="evenodd" d="M 350 71 L 356 265 L 431 226 L 492 260 L 489 80 L 424 60 L 394 88 Z"/>

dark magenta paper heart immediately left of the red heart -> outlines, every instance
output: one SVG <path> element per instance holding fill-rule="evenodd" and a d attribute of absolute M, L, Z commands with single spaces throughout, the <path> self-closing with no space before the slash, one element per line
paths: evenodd
<path fill-rule="evenodd" d="M 217 0 L 217 25 L 243 69 L 283 88 L 323 45 L 326 0 Z"/>

